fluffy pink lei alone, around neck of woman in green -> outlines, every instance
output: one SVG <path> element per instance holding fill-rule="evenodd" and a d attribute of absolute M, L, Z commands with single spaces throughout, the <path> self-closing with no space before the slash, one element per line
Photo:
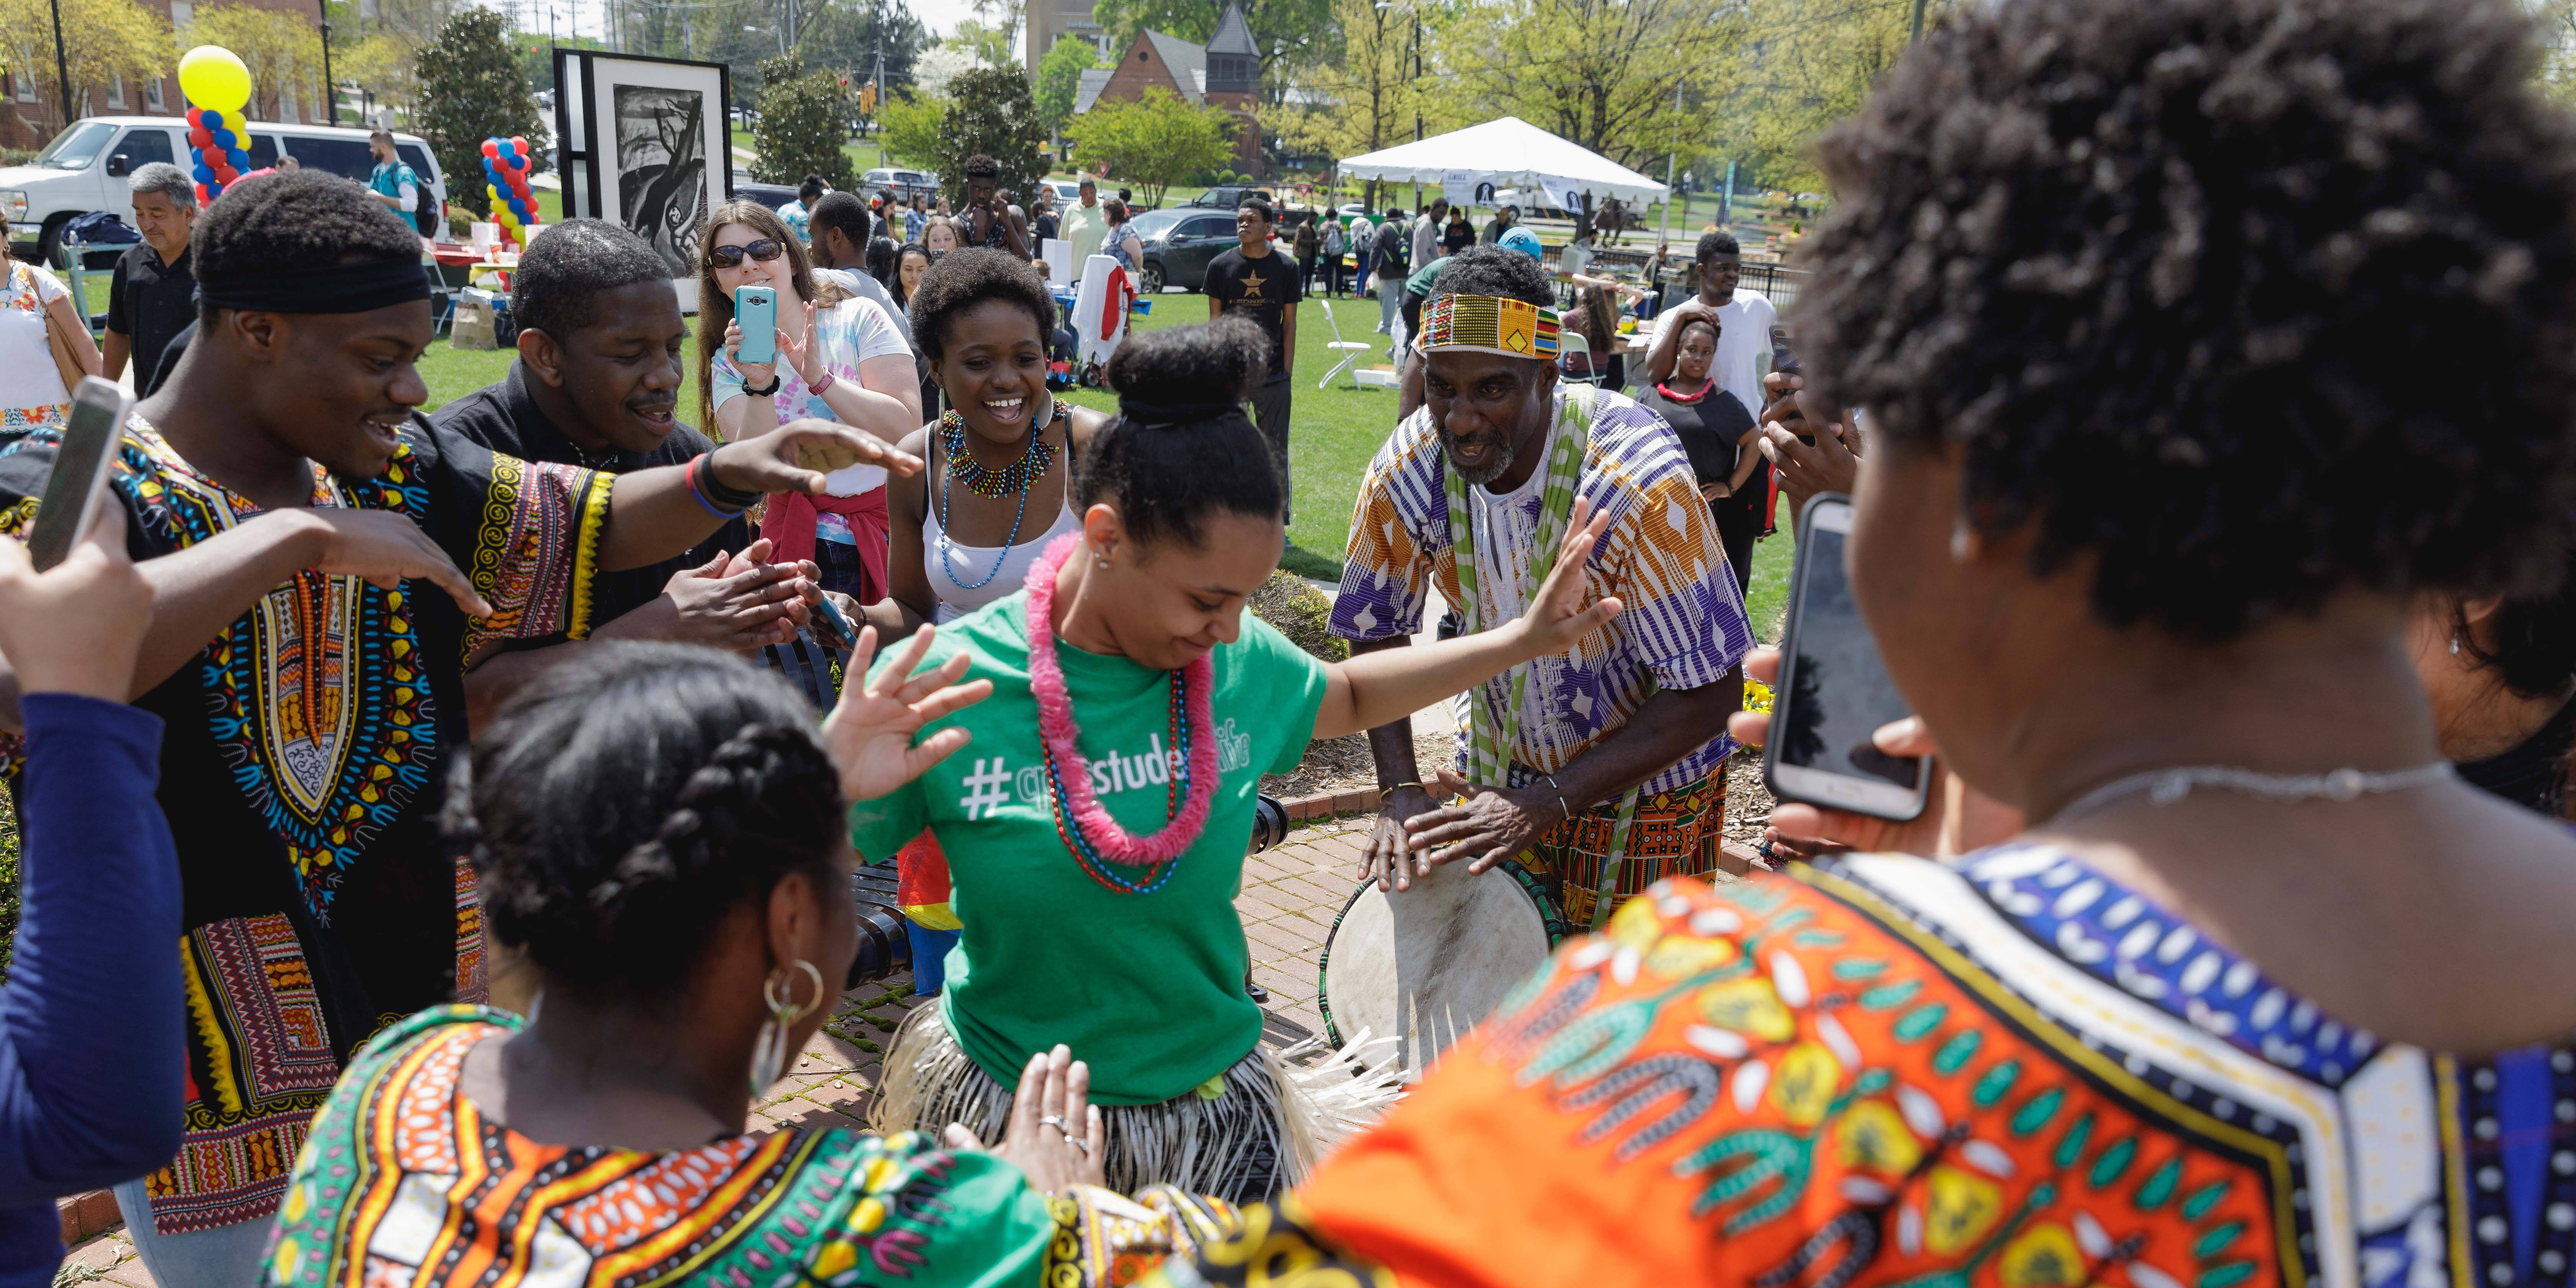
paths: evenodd
<path fill-rule="evenodd" d="M 1074 698 L 1064 690 L 1064 667 L 1056 665 L 1056 569 L 1072 559 L 1079 533 L 1064 533 L 1028 564 L 1028 688 L 1038 696 L 1038 737 L 1064 770 L 1066 814 L 1082 827 L 1082 837 L 1103 858 L 1126 866 L 1170 863 L 1198 845 L 1208 827 L 1208 809 L 1216 804 L 1216 714 L 1208 693 L 1216 688 L 1216 667 L 1208 657 L 1190 662 L 1190 796 L 1180 814 L 1151 837 L 1133 837 L 1092 796 L 1092 762 L 1082 760 L 1082 726 L 1074 721 Z"/>

